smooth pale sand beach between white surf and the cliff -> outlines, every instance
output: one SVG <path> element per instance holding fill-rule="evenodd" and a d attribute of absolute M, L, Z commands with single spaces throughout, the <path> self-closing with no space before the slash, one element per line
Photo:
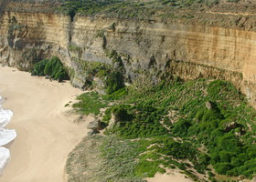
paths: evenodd
<path fill-rule="evenodd" d="M 17 133 L 0 182 L 62 182 L 66 157 L 87 134 L 85 123 L 74 124 L 64 112 L 81 91 L 14 70 L 0 66 L 0 95 L 15 113 L 7 128 Z"/>

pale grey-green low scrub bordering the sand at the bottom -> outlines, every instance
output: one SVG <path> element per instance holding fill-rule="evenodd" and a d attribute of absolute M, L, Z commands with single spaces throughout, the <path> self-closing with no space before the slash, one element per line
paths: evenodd
<path fill-rule="evenodd" d="M 68 182 L 145 182 L 133 175 L 136 147 L 115 137 L 84 138 L 67 159 Z"/>

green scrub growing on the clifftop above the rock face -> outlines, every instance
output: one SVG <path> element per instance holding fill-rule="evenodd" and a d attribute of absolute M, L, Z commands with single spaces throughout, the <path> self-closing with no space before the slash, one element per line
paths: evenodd
<path fill-rule="evenodd" d="M 234 1 L 234 0 L 231 0 Z M 236 0 L 237 1 L 237 0 Z M 60 0 L 59 12 L 70 15 L 73 20 L 76 14 L 103 14 L 118 18 L 148 18 L 161 16 L 174 18 L 174 10 L 183 7 L 194 9 L 197 5 L 215 5 L 219 0 Z M 191 18 L 193 15 L 181 15 Z"/>

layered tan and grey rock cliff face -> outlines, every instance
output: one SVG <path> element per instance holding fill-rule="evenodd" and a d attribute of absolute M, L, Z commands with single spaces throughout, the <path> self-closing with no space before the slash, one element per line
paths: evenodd
<path fill-rule="evenodd" d="M 1 11 L 0 62 L 29 70 L 38 60 L 59 56 L 82 87 L 83 61 L 112 64 L 122 57 L 125 75 L 142 73 L 153 81 L 173 75 L 231 81 L 255 104 L 256 33 L 197 24 L 195 21 L 128 20 Z M 79 60 L 79 61 L 78 61 Z"/>

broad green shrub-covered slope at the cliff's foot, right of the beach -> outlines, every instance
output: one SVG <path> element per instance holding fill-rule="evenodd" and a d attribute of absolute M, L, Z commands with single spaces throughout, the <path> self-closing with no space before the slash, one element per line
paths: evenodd
<path fill-rule="evenodd" d="M 234 86 L 205 79 L 144 85 L 102 96 L 115 102 L 103 116 L 106 125 L 112 116 L 115 119 L 104 133 L 111 136 L 109 143 L 131 147 L 120 151 L 102 144 L 102 157 L 115 161 L 112 167 L 132 153 L 135 161 L 129 174 L 139 178 L 175 167 L 196 181 L 202 180 L 197 173 L 210 181 L 219 181 L 217 173 L 238 180 L 255 176 L 256 113 Z"/>

